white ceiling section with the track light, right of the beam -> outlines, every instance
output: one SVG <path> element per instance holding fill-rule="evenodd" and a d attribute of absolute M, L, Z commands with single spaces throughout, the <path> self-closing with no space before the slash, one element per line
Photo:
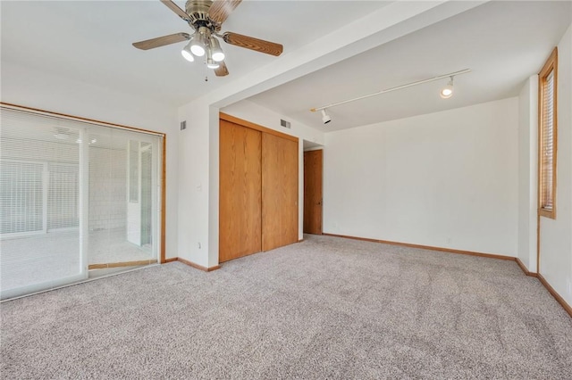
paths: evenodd
<path fill-rule="evenodd" d="M 537 73 L 571 20 L 570 2 L 501 1 L 480 5 L 249 100 L 324 131 L 352 128 L 518 95 Z M 425 78 L 449 78 L 333 107 L 322 123 L 313 107 L 368 95 Z"/>

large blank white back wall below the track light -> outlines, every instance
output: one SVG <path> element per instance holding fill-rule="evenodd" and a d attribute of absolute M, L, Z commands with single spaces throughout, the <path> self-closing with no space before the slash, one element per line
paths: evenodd
<path fill-rule="evenodd" d="M 518 100 L 328 133 L 324 232 L 517 253 Z"/>

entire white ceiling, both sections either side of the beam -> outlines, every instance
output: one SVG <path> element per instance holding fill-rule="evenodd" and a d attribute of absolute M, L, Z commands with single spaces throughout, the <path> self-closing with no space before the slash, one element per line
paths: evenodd
<path fill-rule="evenodd" d="M 183 1 L 175 3 L 184 8 Z M 388 4 L 244 0 L 223 30 L 282 43 L 284 54 L 289 54 Z M 249 100 L 329 131 L 517 95 L 570 24 L 570 4 L 483 4 Z M 149 51 L 131 46 L 190 30 L 158 0 L 0 1 L 0 7 L 3 62 L 172 105 L 188 103 L 282 58 L 223 45 L 231 74 L 224 78 L 209 74 L 206 82 L 202 65 L 182 59 L 184 43 Z M 465 68 L 473 71 L 455 78 L 456 93 L 447 101 L 436 95 L 447 82 L 443 79 L 335 107 L 329 111 L 332 122 L 325 127 L 319 114 L 308 111 Z"/>

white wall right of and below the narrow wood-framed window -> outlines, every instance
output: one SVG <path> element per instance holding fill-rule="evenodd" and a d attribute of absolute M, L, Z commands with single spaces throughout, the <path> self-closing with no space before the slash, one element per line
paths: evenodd
<path fill-rule="evenodd" d="M 556 219 L 541 217 L 540 274 L 572 305 L 572 27 L 558 45 Z"/>

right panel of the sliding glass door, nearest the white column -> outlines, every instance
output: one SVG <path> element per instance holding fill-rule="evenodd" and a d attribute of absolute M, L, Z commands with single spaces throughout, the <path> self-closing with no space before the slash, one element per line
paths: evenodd
<path fill-rule="evenodd" d="M 89 268 L 156 262 L 158 137 L 97 128 L 89 138 Z"/>

